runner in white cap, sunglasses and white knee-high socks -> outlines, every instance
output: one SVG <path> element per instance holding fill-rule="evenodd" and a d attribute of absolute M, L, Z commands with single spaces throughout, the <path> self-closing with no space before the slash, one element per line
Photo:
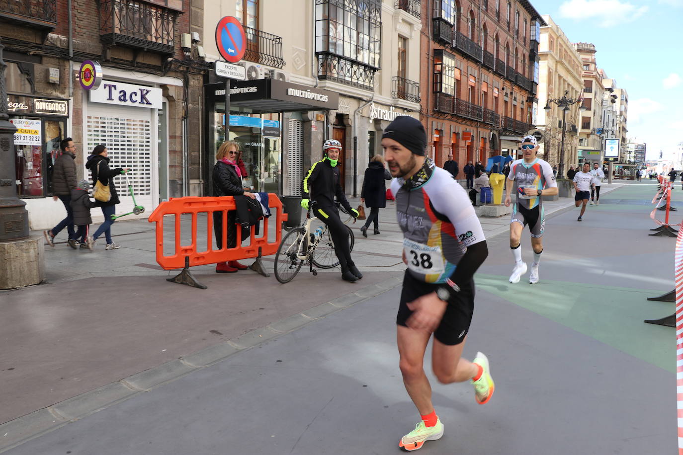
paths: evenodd
<path fill-rule="evenodd" d="M 527 263 L 522 261 L 522 246 L 520 239 L 524 226 L 529 224 L 531 233 L 531 248 L 533 248 L 533 264 L 529 282 L 538 283 L 538 263 L 541 261 L 543 252 L 543 231 L 545 220 L 543 213 L 543 199 L 541 194 L 552 196 L 557 194 L 555 174 L 550 164 L 536 158 L 538 144 L 534 136 L 522 138 L 522 151 L 524 158 L 510 164 L 510 174 L 507 175 L 505 185 L 505 205 L 510 207 L 512 199 L 510 192 L 514 186 L 517 194 L 517 202 L 512 206 L 512 218 L 510 220 L 510 248 L 514 255 L 514 269 L 510 275 L 510 282 L 519 282 L 521 276 L 527 272 Z M 514 185 L 513 185 L 514 184 Z"/>

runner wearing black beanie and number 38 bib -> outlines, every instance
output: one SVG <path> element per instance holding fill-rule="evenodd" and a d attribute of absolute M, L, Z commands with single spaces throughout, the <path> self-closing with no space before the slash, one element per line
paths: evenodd
<path fill-rule="evenodd" d="M 417 450 L 443 435 L 423 370 L 432 333 L 432 368 L 438 381 L 471 380 L 482 405 L 494 390 L 486 355 L 477 353 L 474 362 L 460 357 L 474 307 L 473 275 L 488 255 L 484 231 L 465 190 L 425 158 L 426 147 L 425 130 L 413 117 L 396 117 L 382 136 L 389 171 L 398 177 L 391 181 L 391 192 L 408 265 L 396 318 L 400 368 L 422 417 L 402 437 L 399 447 L 405 450 Z"/>

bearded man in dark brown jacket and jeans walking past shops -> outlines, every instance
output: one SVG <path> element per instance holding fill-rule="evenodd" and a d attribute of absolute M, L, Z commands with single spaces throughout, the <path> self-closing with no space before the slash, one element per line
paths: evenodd
<path fill-rule="evenodd" d="M 48 231 L 43 231 L 45 240 L 49 246 L 55 246 L 55 235 L 66 227 L 68 233 L 68 245 L 71 248 L 76 248 L 77 242 L 74 240 L 74 219 L 71 208 L 71 190 L 74 190 L 76 184 L 76 146 L 72 138 L 68 137 L 59 143 L 61 154 L 55 160 L 55 165 L 52 171 L 52 198 L 57 201 L 59 199 L 66 208 L 66 218 L 57 223 L 57 226 Z"/>

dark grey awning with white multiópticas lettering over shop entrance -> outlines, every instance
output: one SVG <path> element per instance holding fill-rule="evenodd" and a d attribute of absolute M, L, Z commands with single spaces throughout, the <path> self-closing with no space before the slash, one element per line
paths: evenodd
<path fill-rule="evenodd" d="M 212 102 L 225 100 L 225 84 L 204 86 Z M 339 94 L 277 79 L 232 80 L 230 105 L 248 108 L 253 113 L 328 111 L 339 108 Z"/>

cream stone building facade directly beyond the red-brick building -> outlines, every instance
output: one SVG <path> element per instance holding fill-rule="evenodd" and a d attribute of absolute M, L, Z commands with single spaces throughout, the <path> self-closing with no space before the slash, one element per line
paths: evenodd
<path fill-rule="evenodd" d="M 572 105 L 565 112 L 563 106 L 549 103 L 548 100 L 563 96 L 581 98 L 581 57 L 553 18 L 542 17 L 546 25 L 541 27 L 540 35 L 538 102 L 540 106 L 550 106 L 550 111 L 546 113 L 544 109 L 540 109 L 536 116 L 536 126 L 542 130 L 544 138 L 539 147 L 539 155 L 558 168 L 560 157 L 563 156 L 562 168 L 568 170 L 569 166 L 578 162 L 579 135 L 576 123 L 579 120 L 579 106 Z M 564 135 L 563 119 L 566 123 Z"/>

